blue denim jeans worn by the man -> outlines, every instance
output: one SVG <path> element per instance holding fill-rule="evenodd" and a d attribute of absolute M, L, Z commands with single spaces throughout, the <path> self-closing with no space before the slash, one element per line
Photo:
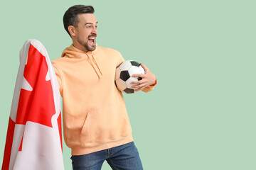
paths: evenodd
<path fill-rule="evenodd" d="M 91 154 L 71 157 L 73 170 L 100 170 L 107 160 L 114 170 L 142 170 L 142 162 L 134 142 L 118 147 L 112 147 Z"/>

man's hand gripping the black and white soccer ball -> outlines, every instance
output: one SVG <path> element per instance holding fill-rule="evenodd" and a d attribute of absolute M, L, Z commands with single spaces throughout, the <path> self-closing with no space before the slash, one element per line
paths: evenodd
<path fill-rule="evenodd" d="M 156 82 L 156 77 L 154 74 L 150 72 L 150 70 L 144 65 L 141 64 L 142 68 L 145 70 L 145 74 L 133 74 L 132 77 L 142 77 L 139 81 L 132 81 L 131 84 L 138 84 L 135 86 L 131 86 L 132 88 L 136 89 L 134 91 L 140 91 Z M 139 89 L 137 89 L 139 88 Z"/>

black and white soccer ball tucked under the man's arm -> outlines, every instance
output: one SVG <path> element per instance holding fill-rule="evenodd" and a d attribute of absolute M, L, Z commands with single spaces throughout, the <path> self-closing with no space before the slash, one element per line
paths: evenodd
<path fill-rule="evenodd" d="M 141 80 L 142 77 L 132 77 L 132 74 L 145 74 L 145 70 L 139 62 L 128 60 L 117 67 L 114 82 L 119 91 L 125 94 L 135 94 L 137 92 L 131 88 L 131 86 L 136 86 L 137 84 L 131 84 L 131 81 Z"/>

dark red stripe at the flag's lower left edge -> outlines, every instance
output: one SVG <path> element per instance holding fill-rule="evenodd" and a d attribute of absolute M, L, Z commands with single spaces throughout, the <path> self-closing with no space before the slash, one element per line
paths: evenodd
<path fill-rule="evenodd" d="M 14 140 L 14 128 L 15 128 L 15 122 L 11 120 L 11 117 L 10 117 L 7 135 L 6 135 L 6 145 L 4 149 L 4 160 L 3 160 L 2 170 L 9 169 L 10 158 L 11 158 L 11 147 Z"/>

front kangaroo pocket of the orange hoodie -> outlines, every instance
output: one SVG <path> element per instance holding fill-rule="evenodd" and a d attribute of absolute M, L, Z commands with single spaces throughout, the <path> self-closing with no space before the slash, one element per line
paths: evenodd
<path fill-rule="evenodd" d="M 82 127 L 80 143 L 82 147 L 100 142 L 118 140 L 132 133 L 126 111 L 112 106 L 90 111 Z"/>

